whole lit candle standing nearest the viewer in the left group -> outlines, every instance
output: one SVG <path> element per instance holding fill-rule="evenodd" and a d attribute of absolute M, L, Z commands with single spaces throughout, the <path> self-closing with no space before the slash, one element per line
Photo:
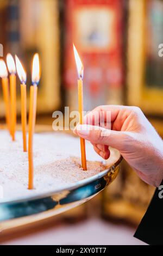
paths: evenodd
<path fill-rule="evenodd" d="M 28 162 L 29 162 L 29 179 L 28 189 L 33 189 L 34 166 L 33 166 L 33 133 L 36 120 L 36 105 L 37 105 L 37 85 L 40 80 L 40 64 L 39 54 L 35 54 L 32 67 L 32 83 L 30 86 L 30 101 L 29 101 L 29 135 L 28 135 Z"/>

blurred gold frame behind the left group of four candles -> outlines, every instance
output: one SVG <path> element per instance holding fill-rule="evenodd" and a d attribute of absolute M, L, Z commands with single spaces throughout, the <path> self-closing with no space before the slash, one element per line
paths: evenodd
<path fill-rule="evenodd" d="M 57 1 L 20 0 L 20 48 L 23 56 L 40 54 L 41 80 L 38 86 L 37 113 L 52 113 L 60 107 L 60 32 Z M 37 10 L 37 14 L 35 14 Z M 28 22 L 28 26 L 27 26 Z M 10 51 L 10 48 L 9 48 Z M 28 56 L 30 53 L 30 56 Z M 13 55 L 14 56 L 14 55 Z M 19 55 L 18 55 L 19 57 Z M 4 56 L 5 59 L 5 56 Z M 27 68 L 27 66 L 26 66 Z M 27 71 L 27 70 L 26 70 Z M 30 69 L 27 79 L 27 110 L 29 109 Z M 17 115 L 21 113 L 20 81 L 17 77 Z M 0 95 L 0 117 L 4 117 L 3 94 Z"/>

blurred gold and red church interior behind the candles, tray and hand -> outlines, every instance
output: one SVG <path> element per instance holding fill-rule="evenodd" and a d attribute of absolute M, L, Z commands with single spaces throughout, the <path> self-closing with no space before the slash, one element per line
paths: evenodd
<path fill-rule="evenodd" d="M 49 130 L 56 109 L 78 108 L 74 42 L 84 63 L 85 110 L 136 105 L 163 136 L 163 58 L 158 56 L 162 31 L 162 0 L 0 0 L 4 59 L 8 52 L 21 58 L 28 88 L 32 56 L 40 54 L 37 124 Z M 1 123 L 2 99 L 0 86 Z M 17 113 L 20 121 L 19 82 Z M 132 236 L 153 192 L 123 162 L 117 179 L 95 199 L 33 228 L 3 234 L 0 242 L 139 244 Z"/>

